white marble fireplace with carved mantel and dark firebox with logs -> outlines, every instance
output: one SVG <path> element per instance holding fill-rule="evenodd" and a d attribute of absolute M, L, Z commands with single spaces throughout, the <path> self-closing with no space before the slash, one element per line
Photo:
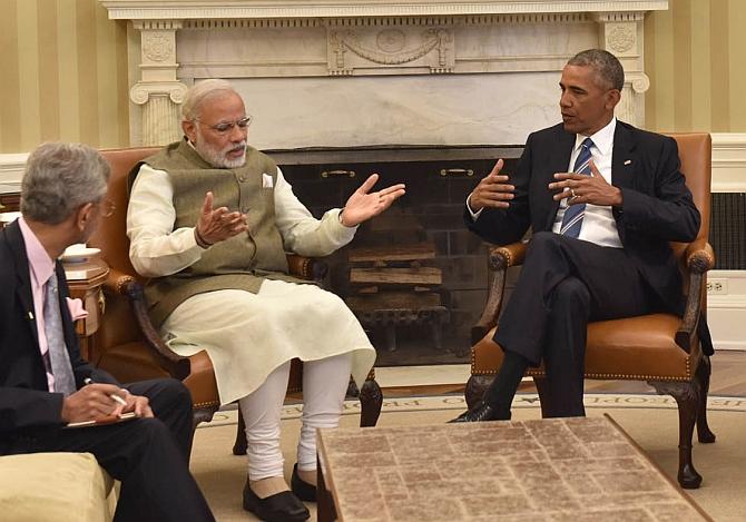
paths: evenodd
<path fill-rule="evenodd" d="M 560 71 L 593 47 L 620 59 L 617 115 L 642 127 L 644 20 L 668 8 L 667 0 L 100 1 L 110 18 L 131 21 L 132 145 L 178 140 L 187 87 L 226 78 L 255 118 L 249 142 L 271 152 L 316 216 L 343 205 L 370 173 L 382 185 L 408 184 L 394 208 L 328 259 L 332 288 L 370 329 L 383 365 L 468 362 L 488 275 L 483 244 L 462 225 L 464 199 L 497 158 L 520 155 L 484 144 L 523 144 L 556 124 Z"/>

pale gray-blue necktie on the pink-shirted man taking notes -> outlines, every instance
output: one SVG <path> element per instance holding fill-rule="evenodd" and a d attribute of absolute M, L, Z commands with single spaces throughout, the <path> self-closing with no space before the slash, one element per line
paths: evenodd
<path fill-rule="evenodd" d="M 55 392 L 70 395 L 76 391 L 75 375 L 70 355 L 65 344 L 60 299 L 57 288 L 57 274 L 52 272 L 45 288 L 45 334 L 47 335 L 47 355 L 55 376 Z"/>

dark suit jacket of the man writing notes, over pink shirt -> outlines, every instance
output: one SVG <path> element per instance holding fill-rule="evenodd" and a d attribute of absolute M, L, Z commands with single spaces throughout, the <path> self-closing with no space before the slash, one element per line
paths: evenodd
<path fill-rule="evenodd" d="M 33 313 L 26 245 L 18 223 L 0 230 L 0 454 L 17 436 L 36 436 L 62 425 L 62 394 L 50 393 Z M 118 384 L 108 373 L 84 361 L 70 318 L 65 272 L 57 263 L 65 342 L 78 387 L 86 377 Z"/>

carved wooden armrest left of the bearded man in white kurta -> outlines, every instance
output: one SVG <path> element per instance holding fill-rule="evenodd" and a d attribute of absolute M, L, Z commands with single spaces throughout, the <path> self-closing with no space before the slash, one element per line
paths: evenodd
<path fill-rule="evenodd" d="M 168 374 L 183 381 L 192 372 L 188 357 L 175 354 L 158 335 L 148 316 L 148 307 L 143 295 L 143 285 L 129 274 L 111 269 L 104 283 L 104 288 L 112 295 L 125 297 L 129 301 L 135 319 L 137 321 L 146 345 L 154 352 L 160 366 Z"/>

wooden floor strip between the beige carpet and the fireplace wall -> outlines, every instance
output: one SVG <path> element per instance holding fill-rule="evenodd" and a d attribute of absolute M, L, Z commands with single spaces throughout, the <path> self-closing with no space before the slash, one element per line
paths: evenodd
<path fill-rule="evenodd" d="M 746 352 L 722 351 L 711 358 L 713 376 L 709 394 L 732 397 L 746 397 Z M 446 395 L 463 394 L 463 385 L 430 385 L 416 387 L 386 387 L 383 390 L 385 398 L 414 395 Z M 520 387 L 522 392 L 536 391 L 531 381 L 524 381 Z M 588 393 L 656 393 L 642 381 L 586 381 Z"/>

